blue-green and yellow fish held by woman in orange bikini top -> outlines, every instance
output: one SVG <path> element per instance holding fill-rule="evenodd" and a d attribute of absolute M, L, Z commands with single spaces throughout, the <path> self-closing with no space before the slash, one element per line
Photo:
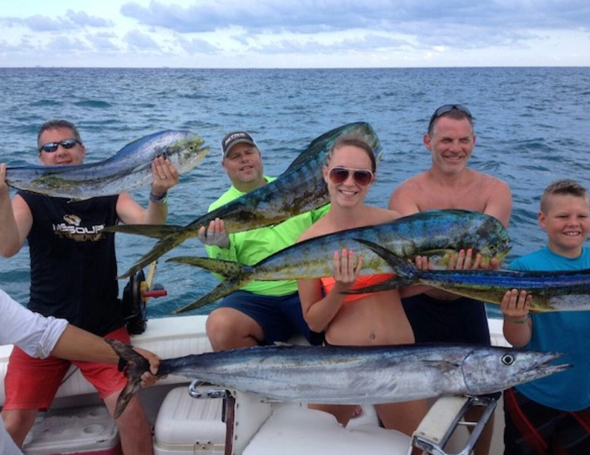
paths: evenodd
<path fill-rule="evenodd" d="M 468 210 L 432 210 L 382 225 L 343 230 L 296 243 L 251 266 L 219 259 L 179 256 L 168 261 L 199 266 L 227 279 L 196 302 L 174 312 L 207 305 L 253 280 L 332 276 L 332 255 L 343 248 L 363 256 L 363 275 L 392 273 L 388 263 L 358 239 L 384 245 L 406 259 L 416 255 L 445 256 L 449 252 L 473 248 L 487 260 L 496 258 L 501 261 L 510 249 L 508 233 L 496 218 Z"/>

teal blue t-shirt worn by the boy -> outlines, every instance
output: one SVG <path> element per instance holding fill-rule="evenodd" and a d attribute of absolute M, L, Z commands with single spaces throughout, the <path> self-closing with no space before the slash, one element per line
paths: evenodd
<path fill-rule="evenodd" d="M 590 250 L 584 248 L 578 258 L 569 259 L 543 248 L 516 259 L 509 268 L 530 271 L 587 269 L 590 268 Z M 562 411 L 590 407 L 590 311 L 532 313 L 531 318 L 533 334 L 525 348 L 565 352 L 566 355 L 555 363 L 569 363 L 573 368 L 517 385 L 517 390 L 537 403 Z"/>

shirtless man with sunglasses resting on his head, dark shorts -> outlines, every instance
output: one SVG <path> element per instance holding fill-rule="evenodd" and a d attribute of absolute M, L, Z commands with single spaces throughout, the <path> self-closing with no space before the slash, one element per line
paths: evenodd
<path fill-rule="evenodd" d="M 467 167 L 475 144 L 473 118 L 466 107 L 445 104 L 435 110 L 424 134 L 432 167 L 397 187 L 389 198 L 389 209 L 402 216 L 436 209 L 476 210 L 496 217 L 507 227 L 512 211 L 510 188 L 496 177 Z M 417 258 L 421 268 L 425 267 L 423 261 L 427 258 Z M 473 257 L 471 249 L 461 250 L 450 259 L 448 268 L 481 268 L 480 261 L 481 256 Z M 492 268 L 498 266 L 492 261 Z M 402 303 L 416 342 L 490 344 L 483 302 L 432 289 L 402 299 Z M 490 421 L 476 445 L 476 455 L 489 453 L 492 430 Z"/>

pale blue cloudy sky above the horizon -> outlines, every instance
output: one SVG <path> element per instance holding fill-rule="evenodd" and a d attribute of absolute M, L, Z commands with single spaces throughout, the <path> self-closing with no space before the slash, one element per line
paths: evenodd
<path fill-rule="evenodd" d="M 0 67 L 590 66 L 588 0 L 2 0 Z"/>

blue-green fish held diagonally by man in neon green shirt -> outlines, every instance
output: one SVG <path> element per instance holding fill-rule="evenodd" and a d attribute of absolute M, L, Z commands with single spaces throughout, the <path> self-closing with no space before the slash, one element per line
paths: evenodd
<path fill-rule="evenodd" d="M 148 253 L 119 278 L 132 275 L 186 239 L 196 237 L 199 228 L 208 226 L 215 218 L 224 220 L 225 230 L 232 233 L 274 225 L 299 213 L 326 205 L 329 203 L 329 196 L 322 167 L 340 136 L 351 136 L 364 141 L 376 155 L 381 150 L 381 143 L 371 125 L 364 122 L 349 123 L 314 139 L 273 182 L 199 216 L 186 226 L 107 226 L 105 232 L 139 234 L 159 239 Z"/>

